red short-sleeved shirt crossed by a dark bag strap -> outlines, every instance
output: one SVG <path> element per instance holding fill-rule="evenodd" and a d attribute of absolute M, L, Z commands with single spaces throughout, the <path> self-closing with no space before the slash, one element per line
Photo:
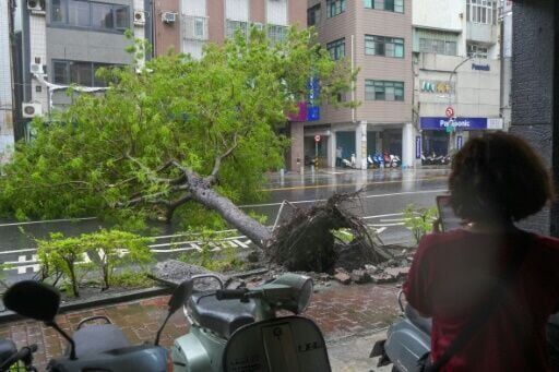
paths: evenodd
<path fill-rule="evenodd" d="M 404 292 L 420 313 L 432 316 L 431 356 L 437 360 L 467 325 L 519 237 L 454 230 L 426 236 L 414 257 Z M 559 239 L 534 236 L 522 266 L 500 301 L 442 371 L 550 371 L 545 325 L 559 304 Z M 514 322 L 521 326 L 513 326 Z M 521 329 L 519 329 L 521 328 Z M 526 348 L 532 348 L 528 357 Z"/>

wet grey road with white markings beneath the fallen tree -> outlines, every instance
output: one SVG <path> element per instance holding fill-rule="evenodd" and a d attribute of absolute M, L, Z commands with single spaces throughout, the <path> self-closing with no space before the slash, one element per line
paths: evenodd
<path fill-rule="evenodd" d="M 267 224 L 273 225 L 284 200 L 297 207 L 305 207 L 324 201 L 335 192 L 361 190 L 360 199 L 346 207 L 365 217 L 372 227 L 380 228 L 384 242 L 405 243 L 411 240 L 411 235 L 403 226 L 402 211 L 411 203 L 420 207 L 433 206 L 435 196 L 447 190 L 448 173 L 447 169 L 308 170 L 302 176 L 287 173 L 284 177 L 274 173 L 270 175 L 264 189 L 269 193 L 267 200 L 241 207 L 265 215 Z M 280 219 L 287 218 L 290 211 L 292 207 L 285 206 Z M 0 262 L 12 264 L 9 276 L 33 275 L 38 269 L 33 238 L 47 237 L 50 231 L 72 236 L 94 231 L 99 226 L 95 218 L 23 224 L 0 220 Z M 152 249 L 158 257 L 179 254 L 195 247 L 193 242 L 175 236 L 177 231 L 174 227 L 164 224 L 155 226 L 160 235 Z M 227 243 L 238 248 L 250 245 L 250 241 L 243 237 L 234 237 Z"/>

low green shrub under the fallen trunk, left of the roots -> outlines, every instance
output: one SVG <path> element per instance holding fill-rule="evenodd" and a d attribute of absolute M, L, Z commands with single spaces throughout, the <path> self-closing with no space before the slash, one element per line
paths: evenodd
<path fill-rule="evenodd" d="M 202 229 L 190 231 L 187 237 L 194 240 L 200 248 L 182 254 L 179 260 L 189 264 L 205 267 L 212 272 L 230 272 L 242 269 L 245 263 L 238 259 L 238 249 L 222 240 L 234 236 L 231 232 Z"/>

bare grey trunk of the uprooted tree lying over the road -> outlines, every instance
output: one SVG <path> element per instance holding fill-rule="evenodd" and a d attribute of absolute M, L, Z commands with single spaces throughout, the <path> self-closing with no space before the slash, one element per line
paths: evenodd
<path fill-rule="evenodd" d="M 258 247 L 266 247 L 267 241 L 272 237 L 272 232 L 267 227 L 247 215 L 227 197 L 219 195 L 207 182 L 204 182 L 202 179 L 198 181 L 191 182 L 189 188 L 192 193 L 192 200 L 217 212 L 227 223 L 252 240 Z"/>

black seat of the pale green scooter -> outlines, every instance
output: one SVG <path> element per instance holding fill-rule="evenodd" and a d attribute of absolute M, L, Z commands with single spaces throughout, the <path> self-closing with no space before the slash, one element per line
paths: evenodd
<path fill-rule="evenodd" d="M 192 295 L 188 300 L 188 308 L 194 322 L 225 338 L 229 338 L 239 327 L 253 323 L 257 313 L 257 304 L 253 300 L 219 301 L 213 292 Z"/>

